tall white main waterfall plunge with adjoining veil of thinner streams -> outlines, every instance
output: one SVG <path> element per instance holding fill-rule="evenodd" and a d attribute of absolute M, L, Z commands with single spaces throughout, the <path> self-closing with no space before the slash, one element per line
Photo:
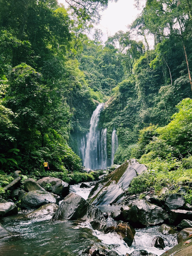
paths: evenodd
<path fill-rule="evenodd" d="M 97 127 L 103 107 L 104 103 L 99 104 L 92 114 L 86 149 L 85 142 L 81 144 L 85 150 L 83 165 L 93 170 L 107 168 L 107 128 L 98 130 Z"/>

